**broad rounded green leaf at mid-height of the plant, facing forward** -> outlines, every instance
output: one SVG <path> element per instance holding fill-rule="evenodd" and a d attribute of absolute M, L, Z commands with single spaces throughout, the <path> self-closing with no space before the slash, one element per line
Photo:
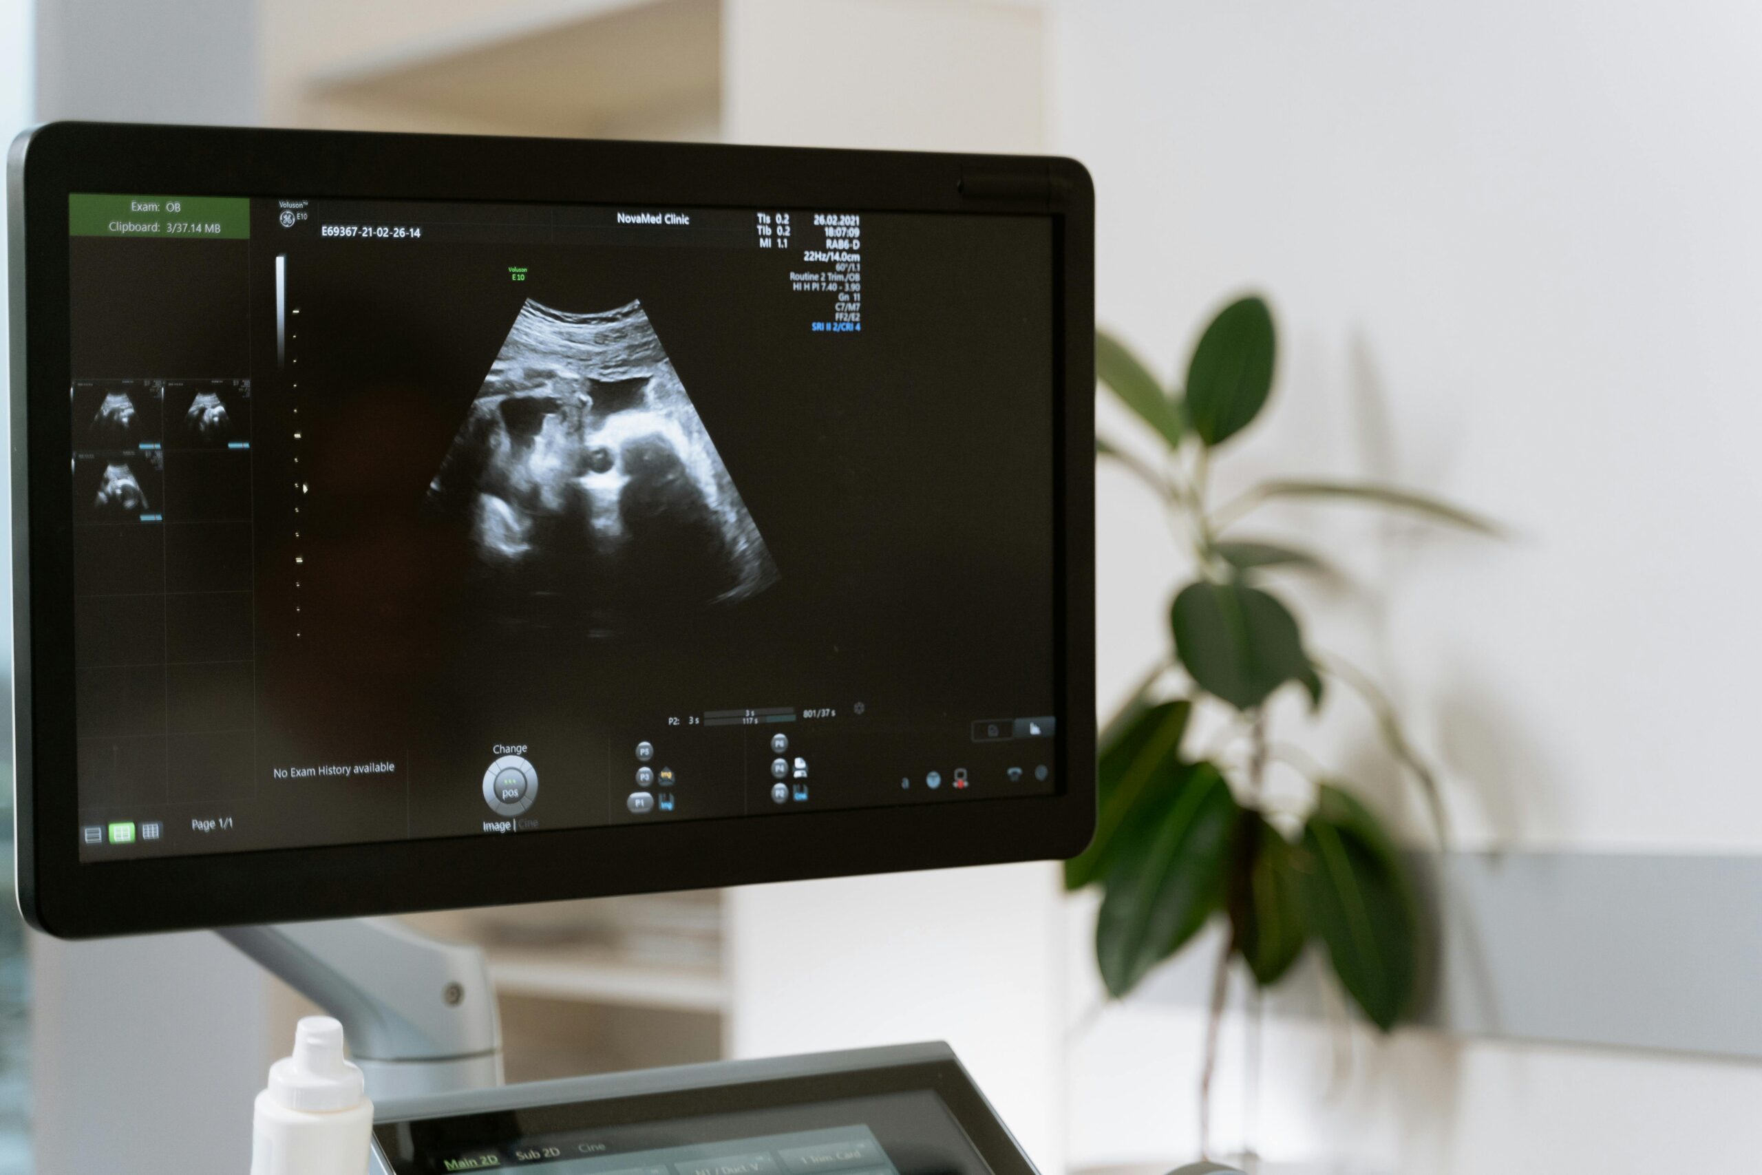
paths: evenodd
<path fill-rule="evenodd" d="M 1189 583 L 1168 611 L 1175 655 L 1200 689 L 1237 710 L 1253 710 L 1286 682 L 1313 701 L 1322 678 L 1304 652 L 1297 618 L 1274 595 L 1246 583 Z"/>

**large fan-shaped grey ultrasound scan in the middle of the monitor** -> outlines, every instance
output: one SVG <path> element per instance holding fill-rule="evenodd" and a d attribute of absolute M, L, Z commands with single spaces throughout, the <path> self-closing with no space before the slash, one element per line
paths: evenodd
<path fill-rule="evenodd" d="M 543 597 L 615 632 L 779 578 L 638 301 L 566 314 L 529 299 L 428 500 L 469 530 L 504 618 L 546 615 Z"/>

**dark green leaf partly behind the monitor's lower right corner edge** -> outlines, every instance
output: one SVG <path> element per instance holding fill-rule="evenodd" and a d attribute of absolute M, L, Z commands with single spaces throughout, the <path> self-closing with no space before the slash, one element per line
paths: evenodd
<path fill-rule="evenodd" d="M 1133 819 L 1149 819 L 1142 809 L 1154 809 L 1191 772 L 1191 765 L 1181 761 L 1181 738 L 1193 713 L 1191 703 L 1135 705 L 1138 701 L 1135 698 L 1128 703 L 1121 719 L 1101 733 L 1096 835 L 1082 854 L 1064 863 L 1066 890 L 1082 890 L 1099 881 L 1107 874 L 1119 830 Z"/>

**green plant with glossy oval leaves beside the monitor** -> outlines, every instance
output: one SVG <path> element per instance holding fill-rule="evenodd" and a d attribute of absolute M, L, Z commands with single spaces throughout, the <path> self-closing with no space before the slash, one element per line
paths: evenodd
<path fill-rule="evenodd" d="M 1357 1008 L 1392 1029 L 1418 995 L 1427 914 L 1383 821 L 1351 780 L 1297 761 L 1309 779 L 1300 809 L 1274 807 L 1269 701 L 1300 691 L 1320 708 L 1330 687 L 1362 698 L 1387 750 L 1422 789 L 1434 819 L 1436 780 L 1376 684 L 1304 639 L 1274 588 L 1283 574 L 1325 571 L 1316 551 L 1240 532 L 1279 499 L 1397 509 L 1478 534 L 1494 527 L 1434 497 L 1390 484 L 1281 477 L 1210 500 L 1212 460 L 1262 412 L 1276 372 L 1276 329 L 1262 298 L 1225 307 L 1193 349 L 1181 388 L 1163 388 L 1131 351 L 1096 338 L 1103 388 L 1163 446 L 1145 462 L 1098 440 L 1098 453 L 1138 476 L 1165 502 L 1191 548 L 1193 580 L 1168 611 L 1173 654 L 1101 731 L 1099 821 L 1070 861 L 1070 890 L 1103 891 L 1096 962 L 1114 997 L 1131 992 L 1214 916 L 1228 923 L 1212 985 L 1200 1078 L 1200 1147 L 1209 1150 L 1210 1080 L 1228 974 L 1239 960 L 1269 988 L 1311 946 Z M 1219 712 L 1223 738 L 1189 743 L 1196 710 Z M 1441 826 L 1441 824 L 1440 824 Z"/>

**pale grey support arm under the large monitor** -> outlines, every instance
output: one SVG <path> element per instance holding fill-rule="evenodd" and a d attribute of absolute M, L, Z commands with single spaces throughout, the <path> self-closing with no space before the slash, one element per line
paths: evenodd
<path fill-rule="evenodd" d="M 375 1101 L 502 1083 L 502 1024 L 478 948 L 391 918 L 215 934 L 342 1022 Z"/>

